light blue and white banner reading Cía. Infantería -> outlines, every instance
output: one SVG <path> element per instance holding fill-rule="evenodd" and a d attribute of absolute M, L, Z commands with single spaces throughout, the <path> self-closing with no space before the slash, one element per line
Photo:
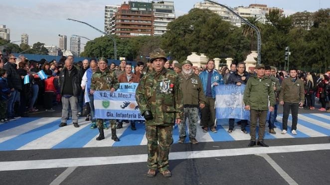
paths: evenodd
<path fill-rule="evenodd" d="M 95 118 L 144 120 L 135 99 L 138 83 L 121 83 L 120 88 L 110 91 L 94 92 Z"/>

